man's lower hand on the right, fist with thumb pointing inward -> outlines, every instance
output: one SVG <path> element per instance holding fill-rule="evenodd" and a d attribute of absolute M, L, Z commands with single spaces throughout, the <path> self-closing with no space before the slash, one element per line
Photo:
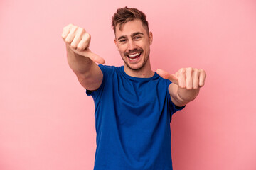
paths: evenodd
<path fill-rule="evenodd" d="M 182 89 L 198 89 L 205 84 L 206 72 L 203 69 L 181 68 L 175 74 L 169 74 L 162 69 L 156 70 L 159 76 L 169 79 Z"/>

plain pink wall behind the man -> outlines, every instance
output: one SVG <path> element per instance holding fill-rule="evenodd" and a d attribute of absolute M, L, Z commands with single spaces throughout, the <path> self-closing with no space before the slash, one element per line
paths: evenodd
<path fill-rule="evenodd" d="M 146 13 L 151 64 L 170 73 L 206 70 L 206 86 L 171 122 L 175 170 L 256 169 L 256 1 L 0 1 L 0 169 L 92 169 L 92 98 L 68 67 L 68 23 L 92 35 L 90 48 L 121 65 L 111 17 Z"/>

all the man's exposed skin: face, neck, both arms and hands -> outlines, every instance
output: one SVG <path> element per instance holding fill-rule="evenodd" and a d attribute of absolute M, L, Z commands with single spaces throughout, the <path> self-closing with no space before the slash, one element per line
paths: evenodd
<path fill-rule="evenodd" d="M 80 84 L 85 89 L 94 91 L 100 87 L 103 74 L 99 64 L 105 60 L 90 51 L 90 34 L 85 29 L 72 24 L 63 28 L 62 38 L 66 44 L 68 64 L 73 69 Z M 114 43 L 124 60 L 124 72 L 132 77 L 152 77 L 149 54 L 150 45 L 153 42 L 153 34 L 147 32 L 139 20 L 124 23 L 121 29 L 116 27 Z M 139 53 L 135 60 L 128 56 Z M 169 79 L 173 83 L 169 85 L 171 101 L 176 106 L 185 106 L 198 96 L 199 90 L 205 84 L 206 72 L 203 69 L 192 67 L 181 68 L 175 74 L 170 74 L 162 69 L 156 70 L 159 76 Z"/>

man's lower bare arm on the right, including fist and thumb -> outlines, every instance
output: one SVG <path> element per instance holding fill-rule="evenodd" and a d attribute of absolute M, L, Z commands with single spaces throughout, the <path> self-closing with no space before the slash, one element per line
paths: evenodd
<path fill-rule="evenodd" d="M 159 74 L 164 79 L 169 79 L 173 83 L 169 85 L 171 101 L 176 106 L 185 106 L 198 96 L 199 89 L 205 84 L 206 72 L 203 69 L 182 68 L 176 74 L 169 74 L 162 69 L 158 69 Z"/>

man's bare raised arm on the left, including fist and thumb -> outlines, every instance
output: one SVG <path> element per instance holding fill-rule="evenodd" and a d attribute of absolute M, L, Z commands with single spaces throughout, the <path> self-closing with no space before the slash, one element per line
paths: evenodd
<path fill-rule="evenodd" d="M 105 60 L 89 50 L 90 34 L 85 29 L 69 24 L 63 28 L 62 38 L 66 45 L 68 64 L 80 84 L 88 90 L 96 90 L 102 83 L 103 74 L 95 63 Z"/>

